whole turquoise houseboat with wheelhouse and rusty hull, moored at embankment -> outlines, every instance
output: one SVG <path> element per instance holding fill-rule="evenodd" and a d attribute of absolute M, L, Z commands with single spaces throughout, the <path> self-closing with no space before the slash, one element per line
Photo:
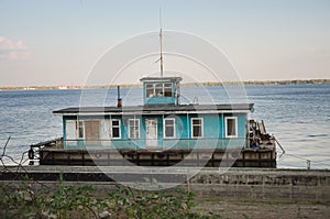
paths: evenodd
<path fill-rule="evenodd" d="M 143 77 L 143 105 L 54 111 L 63 138 L 31 145 L 41 165 L 276 167 L 275 138 L 253 103 L 183 105 L 183 78 Z M 118 92 L 120 88 L 118 88 Z"/>

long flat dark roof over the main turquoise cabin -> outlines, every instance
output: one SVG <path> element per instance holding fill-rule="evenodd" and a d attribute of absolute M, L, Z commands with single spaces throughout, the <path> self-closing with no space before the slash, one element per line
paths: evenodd
<path fill-rule="evenodd" d="M 228 105 L 144 105 L 118 107 L 75 107 L 55 110 L 55 114 L 180 114 L 180 113 L 248 113 L 253 103 Z"/>

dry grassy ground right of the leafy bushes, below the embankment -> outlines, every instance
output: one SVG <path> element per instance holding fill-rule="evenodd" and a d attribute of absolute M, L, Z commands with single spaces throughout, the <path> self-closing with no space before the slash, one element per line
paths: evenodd
<path fill-rule="evenodd" d="M 211 211 L 230 219 L 328 218 L 330 202 L 262 200 L 262 199 L 196 199 L 196 212 Z"/>

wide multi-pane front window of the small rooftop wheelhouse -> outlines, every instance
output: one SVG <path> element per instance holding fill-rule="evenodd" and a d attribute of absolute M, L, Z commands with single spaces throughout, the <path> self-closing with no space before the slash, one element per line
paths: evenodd
<path fill-rule="evenodd" d="M 173 97 L 170 83 L 145 84 L 145 96 L 152 97 Z"/>

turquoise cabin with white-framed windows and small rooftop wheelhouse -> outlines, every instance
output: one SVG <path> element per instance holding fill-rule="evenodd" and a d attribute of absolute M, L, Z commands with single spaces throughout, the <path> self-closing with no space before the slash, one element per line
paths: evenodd
<path fill-rule="evenodd" d="M 67 108 L 64 150 L 191 150 L 246 146 L 253 105 L 180 105 L 182 77 L 143 77 L 143 106 Z"/>

